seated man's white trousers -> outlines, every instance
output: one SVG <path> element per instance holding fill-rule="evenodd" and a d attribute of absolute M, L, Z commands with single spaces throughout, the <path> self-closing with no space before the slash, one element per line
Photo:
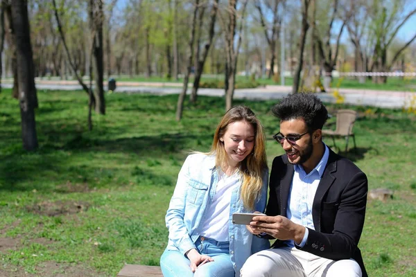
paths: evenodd
<path fill-rule="evenodd" d="M 353 260 L 329 260 L 293 248 L 267 249 L 250 256 L 241 277 L 361 277 Z"/>

